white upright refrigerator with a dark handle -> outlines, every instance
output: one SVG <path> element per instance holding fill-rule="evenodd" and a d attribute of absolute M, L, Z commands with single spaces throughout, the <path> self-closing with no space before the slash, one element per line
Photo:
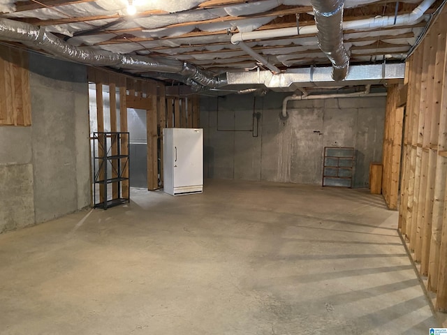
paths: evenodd
<path fill-rule="evenodd" d="M 163 184 L 171 195 L 202 193 L 203 129 L 163 129 Z"/>

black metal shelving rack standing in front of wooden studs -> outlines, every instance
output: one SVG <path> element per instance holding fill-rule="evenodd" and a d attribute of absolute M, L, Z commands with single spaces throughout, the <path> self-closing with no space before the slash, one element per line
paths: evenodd
<path fill-rule="evenodd" d="M 91 140 L 94 157 L 94 207 L 108 209 L 108 207 L 130 202 L 129 192 L 124 194 L 122 188 L 122 182 L 129 181 L 129 154 L 122 153 L 123 146 L 126 148 L 126 153 L 129 153 L 129 133 L 96 132 L 93 133 Z M 113 192 L 108 190 L 108 186 L 112 184 L 117 184 L 115 198 Z M 103 197 L 96 185 L 100 188 L 102 186 Z M 98 192 L 100 200 L 96 202 Z"/>

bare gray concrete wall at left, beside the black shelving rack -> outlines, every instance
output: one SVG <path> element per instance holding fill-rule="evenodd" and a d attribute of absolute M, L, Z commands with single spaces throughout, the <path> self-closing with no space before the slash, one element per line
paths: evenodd
<path fill-rule="evenodd" d="M 87 69 L 29 54 L 31 126 L 0 127 L 0 232 L 90 204 Z"/>

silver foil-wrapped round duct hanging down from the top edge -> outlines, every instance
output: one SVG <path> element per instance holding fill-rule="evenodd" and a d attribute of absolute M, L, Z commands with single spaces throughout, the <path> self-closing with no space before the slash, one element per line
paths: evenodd
<path fill-rule="evenodd" d="M 318 29 L 318 45 L 332 63 L 332 79 L 344 80 L 349 56 L 343 45 L 344 0 L 311 0 Z"/>

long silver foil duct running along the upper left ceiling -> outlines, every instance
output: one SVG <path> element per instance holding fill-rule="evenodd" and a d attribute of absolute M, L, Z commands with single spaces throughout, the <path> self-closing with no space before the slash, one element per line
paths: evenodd
<path fill-rule="evenodd" d="M 54 56 L 95 66 L 112 66 L 129 70 L 177 73 L 185 82 L 195 82 L 203 87 L 219 87 L 225 84 L 210 73 L 189 63 L 177 59 L 163 58 L 162 61 L 151 57 L 118 54 L 92 47 L 75 47 L 45 31 L 45 28 L 32 24 L 0 18 L 0 39 L 14 40 L 31 44 Z M 197 86 L 197 85 L 196 85 Z"/>

